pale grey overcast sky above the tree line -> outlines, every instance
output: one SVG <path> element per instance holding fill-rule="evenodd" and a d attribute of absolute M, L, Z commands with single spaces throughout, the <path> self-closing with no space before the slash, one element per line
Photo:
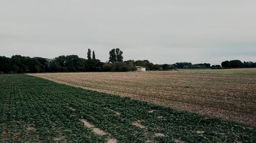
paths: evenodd
<path fill-rule="evenodd" d="M 255 0 L 0 0 L 0 55 L 256 62 Z"/>

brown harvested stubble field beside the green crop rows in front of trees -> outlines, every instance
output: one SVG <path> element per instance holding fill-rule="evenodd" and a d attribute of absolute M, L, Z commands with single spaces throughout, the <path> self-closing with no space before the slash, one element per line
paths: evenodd
<path fill-rule="evenodd" d="M 255 69 L 250 70 L 247 73 Z M 256 127 L 256 75 L 245 72 L 239 69 L 30 75 Z"/>

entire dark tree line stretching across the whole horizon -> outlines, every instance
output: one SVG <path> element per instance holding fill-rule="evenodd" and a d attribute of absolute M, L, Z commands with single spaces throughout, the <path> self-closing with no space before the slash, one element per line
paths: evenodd
<path fill-rule="evenodd" d="M 78 55 L 60 55 L 54 59 L 13 55 L 11 58 L 0 56 L 0 73 L 44 73 L 44 72 L 126 72 L 136 71 L 141 66 L 150 71 L 176 69 L 222 69 L 222 68 L 256 68 L 256 63 L 239 60 L 224 61 L 221 65 L 191 64 L 180 62 L 176 64 L 153 64 L 148 60 L 123 61 L 123 52 L 119 48 L 109 51 L 109 61 L 96 59 L 95 52 L 88 49 L 87 59 Z"/>

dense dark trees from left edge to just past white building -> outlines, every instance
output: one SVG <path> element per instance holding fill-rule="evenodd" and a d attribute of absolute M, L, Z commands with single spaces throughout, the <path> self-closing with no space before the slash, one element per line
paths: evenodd
<path fill-rule="evenodd" d="M 173 65 L 154 65 L 147 60 L 122 61 L 122 51 L 117 51 L 114 63 L 103 63 L 95 58 L 91 58 L 91 50 L 88 49 L 88 59 L 79 58 L 77 55 L 60 55 L 54 59 L 30 58 L 28 56 L 13 55 L 11 58 L 0 56 L 0 73 L 43 73 L 43 72 L 127 72 L 136 71 L 136 66 L 145 67 L 146 70 L 173 70 Z"/>

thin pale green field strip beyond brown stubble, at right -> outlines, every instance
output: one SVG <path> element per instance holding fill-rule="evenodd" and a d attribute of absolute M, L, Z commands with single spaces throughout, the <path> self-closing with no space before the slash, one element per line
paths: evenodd
<path fill-rule="evenodd" d="M 210 70 L 210 69 L 183 69 L 177 72 L 195 72 L 195 73 L 223 73 L 223 74 L 256 74 L 256 68 L 245 68 L 245 69 L 221 69 L 221 70 Z"/>

